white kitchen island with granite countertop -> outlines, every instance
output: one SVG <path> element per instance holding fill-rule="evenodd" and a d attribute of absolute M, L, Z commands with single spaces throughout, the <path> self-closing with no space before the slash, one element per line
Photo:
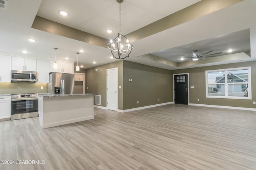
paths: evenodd
<path fill-rule="evenodd" d="M 94 95 L 38 95 L 40 126 L 44 129 L 94 119 Z"/>

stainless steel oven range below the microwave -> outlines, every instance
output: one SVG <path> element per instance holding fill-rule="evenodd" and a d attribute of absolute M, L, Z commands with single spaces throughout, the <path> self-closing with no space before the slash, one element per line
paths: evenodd
<path fill-rule="evenodd" d="M 11 120 L 38 116 L 37 94 L 12 94 Z"/>

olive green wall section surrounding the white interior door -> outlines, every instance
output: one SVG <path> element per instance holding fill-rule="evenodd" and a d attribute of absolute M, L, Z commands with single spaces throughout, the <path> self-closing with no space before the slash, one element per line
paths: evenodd
<path fill-rule="evenodd" d="M 116 61 L 101 66 L 86 69 L 87 93 L 96 93 L 101 95 L 101 106 L 107 106 L 107 69 L 118 68 L 118 109 L 123 109 L 123 61 Z M 98 71 L 95 69 L 98 68 Z M 94 100 L 95 104 L 95 100 Z"/>

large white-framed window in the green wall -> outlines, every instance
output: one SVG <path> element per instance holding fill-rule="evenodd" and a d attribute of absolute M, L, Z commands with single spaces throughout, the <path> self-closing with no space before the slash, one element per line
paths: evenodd
<path fill-rule="evenodd" d="M 251 68 L 207 70 L 206 98 L 252 99 Z"/>

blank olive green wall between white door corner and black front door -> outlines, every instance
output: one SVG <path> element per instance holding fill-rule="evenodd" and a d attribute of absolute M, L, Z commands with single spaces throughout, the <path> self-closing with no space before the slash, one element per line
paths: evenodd
<path fill-rule="evenodd" d="M 124 109 L 172 102 L 172 98 L 171 70 L 124 61 Z"/>

